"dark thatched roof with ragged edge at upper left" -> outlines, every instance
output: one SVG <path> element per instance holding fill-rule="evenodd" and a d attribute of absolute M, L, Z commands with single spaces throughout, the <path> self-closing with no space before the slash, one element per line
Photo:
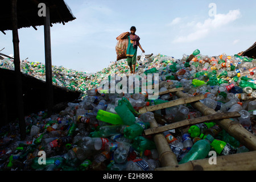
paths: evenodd
<path fill-rule="evenodd" d="M 67 23 L 75 18 L 63 0 L 22 0 L 17 2 L 18 28 L 44 25 L 44 17 L 38 15 L 39 3 L 49 6 L 51 23 Z M 12 30 L 11 0 L 1 2 L 0 31 Z"/>

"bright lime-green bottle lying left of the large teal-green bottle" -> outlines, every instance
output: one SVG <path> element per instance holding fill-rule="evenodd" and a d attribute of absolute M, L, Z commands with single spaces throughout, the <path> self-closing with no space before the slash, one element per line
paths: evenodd
<path fill-rule="evenodd" d="M 98 110 L 96 119 L 112 125 L 123 125 L 123 121 L 118 114 L 110 113 L 105 110 Z"/>

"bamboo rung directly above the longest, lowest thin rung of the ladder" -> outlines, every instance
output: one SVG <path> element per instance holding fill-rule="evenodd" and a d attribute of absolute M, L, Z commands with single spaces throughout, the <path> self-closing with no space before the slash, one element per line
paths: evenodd
<path fill-rule="evenodd" d="M 178 92 L 181 92 L 181 91 L 178 91 Z M 143 113 L 146 113 L 148 111 L 150 112 L 150 111 L 164 109 L 164 108 L 167 108 L 167 107 L 177 106 L 177 105 L 181 105 L 181 104 L 188 104 L 188 103 L 199 101 L 199 100 L 202 100 L 202 99 L 204 99 L 203 95 L 187 97 L 187 98 L 178 98 L 176 100 L 165 102 L 163 104 L 142 107 L 141 109 L 139 109 L 139 113 L 143 114 Z"/>

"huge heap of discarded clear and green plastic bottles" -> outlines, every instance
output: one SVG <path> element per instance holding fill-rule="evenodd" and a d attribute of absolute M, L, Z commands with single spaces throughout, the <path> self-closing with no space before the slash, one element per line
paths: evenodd
<path fill-rule="evenodd" d="M 143 58 L 138 61 L 137 73 L 152 73 L 153 77 L 158 73 L 159 80 L 152 83 L 159 84 L 160 90 L 183 87 L 189 96 L 203 94 L 205 99 L 200 101 L 217 112 L 240 112 L 241 117 L 233 120 L 240 122 L 255 135 L 256 60 L 238 55 L 227 56 L 225 53 L 220 56 L 204 56 L 199 50 L 193 52 L 193 59 L 188 59 L 189 56 L 185 54 L 182 59 L 160 54 Z M 24 66 L 25 63 L 28 67 Z M 1 67 L 8 68 L 10 65 L 1 62 Z M 30 70 L 36 67 L 40 77 L 43 72 L 40 75 L 39 66 L 43 70 L 42 64 L 22 63 L 22 67 L 26 68 L 23 72 L 32 75 L 34 71 Z M 54 70 L 54 76 L 66 77 L 67 70 L 64 68 L 54 67 Z M 85 89 L 81 102 L 70 102 L 65 110 L 49 118 L 44 111 L 27 116 L 27 137 L 24 140 L 19 138 L 18 122 L 2 127 L 0 168 L 143 171 L 160 167 L 152 136 L 145 136 L 143 130 L 150 127 L 152 119 L 161 126 L 185 118 L 201 117 L 201 113 L 191 105 L 184 104 L 168 107 L 164 112 L 156 110 L 139 114 L 139 108 L 143 106 L 177 99 L 175 93 L 149 100 L 147 93 L 97 92 L 97 85 L 108 79 L 108 76 L 122 76 L 126 73 L 129 73 L 126 61 L 121 60 L 110 63 L 101 72 L 89 75 L 90 78 L 85 81 L 90 80 L 95 84 Z M 69 74 L 74 80 L 88 77 L 76 71 L 70 71 Z M 81 82 L 89 84 L 85 81 Z M 115 85 L 118 82 L 115 80 Z M 77 88 L 77 85 L 73 88 Z M 180 164 L 207 158 L 211 150 L 216 151 L 217 155 L 249 151 L 214 122 L 200 123 L 187 129 L 163 132 Z"/>

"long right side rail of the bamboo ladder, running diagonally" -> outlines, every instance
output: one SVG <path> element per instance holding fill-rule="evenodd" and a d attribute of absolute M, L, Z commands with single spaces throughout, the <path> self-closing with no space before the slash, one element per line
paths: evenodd
<path fill-rule="evenodd" d="M 176 92 L 177 97 L 188 97 L 187 93 Z M 201 102 L 193 102 L 191 105 L 199 110 L 203 115 L 215 114 L 216 111 L 205 106 Z M 256 150 L 256 137 L 247 131 L 240 123 L 233 122 L 231 119 L 221 119 L 216 121 L 222 129 L 228 132 L 229 135 L 236 138 L 241 144 L 249 150 Z"/>

